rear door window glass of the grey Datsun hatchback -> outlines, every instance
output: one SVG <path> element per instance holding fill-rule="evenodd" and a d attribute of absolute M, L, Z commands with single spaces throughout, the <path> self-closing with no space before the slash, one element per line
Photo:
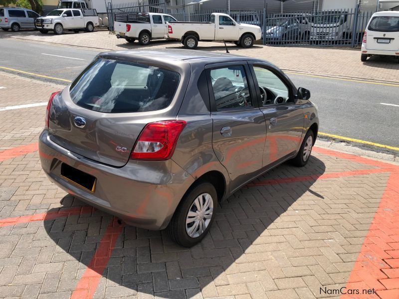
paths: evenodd
<path fill-rule="evenodd" d="M 213 69 L 210 78 L 217 111 L 253 107 L 242 65 Z"/>

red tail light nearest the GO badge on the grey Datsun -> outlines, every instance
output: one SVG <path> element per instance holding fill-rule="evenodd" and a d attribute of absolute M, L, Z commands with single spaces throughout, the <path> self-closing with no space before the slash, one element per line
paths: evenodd
<path fill-rule="evenodd" d="M 147 124 L 130 154 L 133 160 L 168 160 L 175 151 L 186 121 L 161 121 Z"/>

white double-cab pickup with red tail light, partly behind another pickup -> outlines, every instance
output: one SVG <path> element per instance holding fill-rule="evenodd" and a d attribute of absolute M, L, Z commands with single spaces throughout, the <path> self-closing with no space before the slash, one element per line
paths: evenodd
<path fill-rule="evenodd" d="M 177 21 L 173 16 L 164 13 L 130 12 L 116 13 L 114 30 L 117 38 L 128 42 L 148 45 L 152 39 L 162 39 L 167 35 L 167 22 Z"/>

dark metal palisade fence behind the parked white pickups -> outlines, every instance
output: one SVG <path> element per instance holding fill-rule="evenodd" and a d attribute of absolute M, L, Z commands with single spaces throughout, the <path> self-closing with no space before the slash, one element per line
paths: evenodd
<path fill-rule="evenodd" d="M 168 13 L 179 21 L 206 22 L 212 12 L 229 14 L 238 23 L 257 25 L 262 28 L 262 42 L 273 46 L 346 46 L 355 47 L 362 43 L 366 25 L 372 11 L 356 9 L 335 9 L 328 11 L 293 11 L 267 13 L 261 10 L 194 10 L 177 9 L 165 2 L 107 3 L 109 30 L 114 30 L 115 13 L 158 12 Z M 153 2 L 153 3 L 152 3 Z M 180 10 L 180 11 L 179 11 Z"/>

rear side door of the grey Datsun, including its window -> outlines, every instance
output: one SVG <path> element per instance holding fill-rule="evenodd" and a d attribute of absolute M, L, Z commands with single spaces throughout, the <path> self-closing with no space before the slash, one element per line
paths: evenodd
<path fill-rule="evenodd" d="M 246 62 L 207 66 L 212 146 L 230 176 L 230 192 L 262 169 L 265 118 L 258 108 Z"/>

